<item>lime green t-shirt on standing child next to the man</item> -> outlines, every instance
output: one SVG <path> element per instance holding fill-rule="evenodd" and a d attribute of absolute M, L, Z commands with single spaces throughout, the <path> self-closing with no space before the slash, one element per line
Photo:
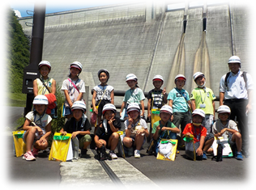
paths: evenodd
<path fill-rule="evenodd" d="M 195 108 L 202 109 L 205 114 L 213 115 L 212 100 L 216 99 L 210 88 L 194 88 L 190 100 L 195 100 Z"/>

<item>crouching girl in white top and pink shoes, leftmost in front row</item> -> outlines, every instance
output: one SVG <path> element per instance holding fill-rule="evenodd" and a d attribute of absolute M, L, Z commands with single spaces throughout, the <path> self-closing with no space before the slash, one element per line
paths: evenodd
<path fill-rule="evenodd" d="M 36 160 L 35 156 L 38 155 L 38 151 L 48 147 L 48 139 L 51 134 L 52 118 L 45 113 L 48 99 L 45 95 L 36 95 L 33 105 L 36 110 L 28 112 L 23 125 L 25 130 L 23 141 L 26 143 L 26 154 L 23 155 L 23 159 L 28 161 Z"/>

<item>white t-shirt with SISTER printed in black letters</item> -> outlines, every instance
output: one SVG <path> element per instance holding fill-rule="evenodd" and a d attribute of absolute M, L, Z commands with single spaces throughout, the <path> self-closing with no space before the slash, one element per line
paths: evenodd
<path fill-rule="evenodd" d="M 96 91 L 96 102 L 100 99 L 105 99 L 111 101 L 111 92 L 113 91 L 113 87 L 106 85 L 101 86 L 97 85 L 96 87 L 93 87 L 93 91 Z"/>

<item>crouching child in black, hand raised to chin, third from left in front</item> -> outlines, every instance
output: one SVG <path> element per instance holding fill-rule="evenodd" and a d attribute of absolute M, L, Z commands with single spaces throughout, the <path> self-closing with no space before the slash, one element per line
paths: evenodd
<path fill-rule="evenodd" d="M 109 148 L 109 154 L 112 159 L 117 159 L 117 155 L 114 153 L 114 150 L 118 144 L 119 134 L 116 132 L 121 129 L 121 122 L 120 119 L 117 118 L 116 112 L 117 109 L 112 103 L 105 104 L 102 109 L 104 120 L 97 129 L 94 137 L 98 150 L 105 152 L 105 147 Z M 105 155 L 100 159 L 105 159 Z"/>

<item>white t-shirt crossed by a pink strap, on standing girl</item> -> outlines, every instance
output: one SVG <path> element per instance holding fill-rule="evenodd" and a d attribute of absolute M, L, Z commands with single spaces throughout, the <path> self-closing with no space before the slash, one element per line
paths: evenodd
<path fill-rule="evenodd" d="M 77 91 L 75 89 L 72 82 L 75 84 L 75 86 L 77 87 L 77 89 L 79 91 Z M 61 90 L 62 91 L 67 90 L 68 94 L 70 95 L 71 102 L 74 103 L 77 100 L 77 98 L 79 97 L 79 93 L 81 93 L 81 92 L 84 93 L 85 92 L 85 87 L 84 87 L 84 82 L 81 79 L 78 79 L 77 81 L 72 81 L 72 82 L 70 82 L 69 79 L 64 80 L 63 83 L 62 83 L 62 89 Z M 67 100 L 65 101 L 65 106 L 67 108 L 70 107 L 70 105 L 67 103 Z"/>

